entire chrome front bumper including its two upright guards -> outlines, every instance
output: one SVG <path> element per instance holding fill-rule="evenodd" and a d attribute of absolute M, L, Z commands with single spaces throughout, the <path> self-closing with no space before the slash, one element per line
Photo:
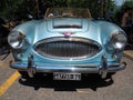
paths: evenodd
<path fill-rule="evenodd" d="M 91 64 L 68 64 L 68 66 L 39 66 L 33 62 L 33 57 L 30 56 L 28 59 L 28 63 L 12 63 L 10 66 L 13 69 L 28 71 L 29 77 L 33 77 L 35 72 L 80 72 L 80 73 L 99 73 L 102 78 L 105 78 L 108 72 L 115 72 L 119 70 L 123 70 L 126 67 L 125 62 L 120 64 L 110 64 L 106 63 L 106 58 L 102 57 L 102 63 L 100 66 L 91 66 Z"/>

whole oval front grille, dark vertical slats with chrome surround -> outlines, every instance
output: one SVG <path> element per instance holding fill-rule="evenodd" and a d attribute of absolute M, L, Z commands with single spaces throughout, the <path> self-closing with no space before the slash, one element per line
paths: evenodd
<path fill-rule="evenodd" d="M 83 59 L 100 52 L 100 44 L 84 38 L 50 38 L 35 43 L 34 50 L 54 59 Z"/>

